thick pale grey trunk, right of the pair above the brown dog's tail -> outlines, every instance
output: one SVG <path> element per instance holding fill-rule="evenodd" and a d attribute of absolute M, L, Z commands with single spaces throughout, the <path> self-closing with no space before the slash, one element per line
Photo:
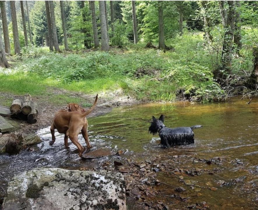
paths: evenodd
<path fill-rule="evenodd" d="M 100 14 L 100 29 L 101 29 L 101 50 L 108 51 L 108 32 L 107 32 L 107 22 L 105 14 L 105 3 L 104 1 L 99 1 L 99 14 Z"/>

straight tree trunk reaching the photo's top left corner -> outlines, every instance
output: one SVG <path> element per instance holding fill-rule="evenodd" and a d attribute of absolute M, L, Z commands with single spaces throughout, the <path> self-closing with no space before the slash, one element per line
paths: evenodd
<path fill-rule="evenodd" d="M 5 1 L 0 1 L 0 7 L 1 7 L 2 23 L 3 23 L 3 38 L 4 38 L 5 52 L 10 54 L 11 49 L 10 49 L 8 24 L 7 24 L 7 18 L 6 18 Z"/>

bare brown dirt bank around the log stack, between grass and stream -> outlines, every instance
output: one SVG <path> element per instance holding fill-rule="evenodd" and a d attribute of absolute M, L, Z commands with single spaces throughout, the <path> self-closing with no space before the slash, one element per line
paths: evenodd
<path fill-rule="evenodd" d="M 69 96 L 69 100 L 63 99 L 60 101 L 51 100 L 51 96 Z M 95 100 L 96 95 L 83 94 L 78 92 L 70 92 L 67 90 L 61 90 L 57 88 L 49 88 L 48 94 L 41 95 L 38 97 L 33 96 L 32 100 L 38 104 L 38 118 L 35 124 L 29 124 L 27 122 L 6 118 L 14 127 L 15 131 L 24 133 L 33 133 L 36 130 L 43 127 L 50 126 L 50 123 L 54 117 L 56 111 L 60 110 L 67 103 L 72 103 L 72 98 L 75 101 L 83 101 L 83 103 L 78 103 L 80 106 L 84 107 L 84 104 L 91 106 Z M 10 106 L 13 99 L 22 98 L 20 95 L 14 95 L 6 92 L 0 92 L 0 105 Z M 88 115 L 88 117 L 103 115 L 112 110 L 113 107 L 117 106 L 130 106 L 132 104 L 137 104 L 139 101 L 131 99 L 125 96 L 120 90 L 115 92 L 100 93 L 98 97 L 98 104 L 94 111 Z"/>

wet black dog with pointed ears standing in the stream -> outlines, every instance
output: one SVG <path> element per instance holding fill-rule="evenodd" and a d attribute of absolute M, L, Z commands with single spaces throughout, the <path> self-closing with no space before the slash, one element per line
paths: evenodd
<path fill-rule="evenodd" d="M 182 145 L 194 143 L 193 129 L 202 127 L 202 125 L 194 125 L 191 127 L 177 127 L 168 128 L 164 125 L 164 116 L 160 115 L 157 120 L 152 116 L 152 122 L 150 123 L 149 132 L 151 134 L 159 133 L 161 144 L 164 147 L 168 145 Z"/>

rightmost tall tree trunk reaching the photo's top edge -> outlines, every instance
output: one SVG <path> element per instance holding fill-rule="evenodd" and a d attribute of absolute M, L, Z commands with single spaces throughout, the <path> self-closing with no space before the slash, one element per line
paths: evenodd
<path fill-rule="evenodd" d="M 242 36 L 241 36 L 241 17 L 240 17 L 240 1 L 236 1 L 236 20 L 235 20 L 235 34 L 234 43 L 237 45 L 237 53 L 239 55 L 239 50 L 242 49 Z"/>

